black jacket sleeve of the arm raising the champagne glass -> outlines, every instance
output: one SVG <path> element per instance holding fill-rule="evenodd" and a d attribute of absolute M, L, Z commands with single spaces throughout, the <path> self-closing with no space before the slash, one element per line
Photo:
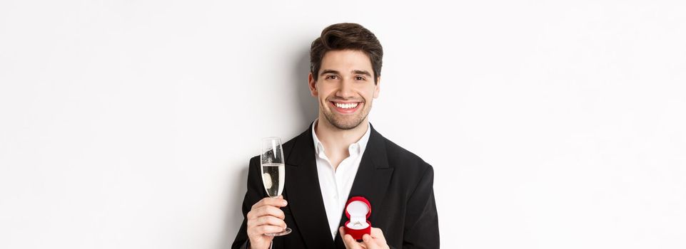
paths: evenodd
<path fill-rule="evenodd" d="M 262 179 L 260 178 L 261 171 L 258 162 L 259 157 L 253 157 L 248 164 L 248 191 L 246 191 L 246 196 L 243 198 L 243 223 L 241 223 L 241 228 L 238 229 L 236 239 L 233 240 L 232 249 L 248 247 L 248 219 L 246 216 L 248 216 L 248 212 L 250 212 L 253 205 L 266 196 L 262 186 Z"/>

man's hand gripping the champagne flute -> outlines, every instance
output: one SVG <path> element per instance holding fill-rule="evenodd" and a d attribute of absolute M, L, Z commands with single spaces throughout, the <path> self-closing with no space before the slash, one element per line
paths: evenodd
<path fill-rule="evenodd" d="M 288 204 L 283 196 L 278 198 L 266 197 L 255 203 L 248 212 L 248 238 L 251 249 L 269 248 L 273 236 L 265 233 L 278 233 L 286 228 L 286 222 L 280 207 Z"/>

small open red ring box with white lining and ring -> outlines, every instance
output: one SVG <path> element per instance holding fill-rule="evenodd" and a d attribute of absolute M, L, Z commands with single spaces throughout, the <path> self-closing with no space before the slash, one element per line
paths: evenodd
<path fill-rule="evenodd" d="M 367 218 L 372 214 L 372 206 L 366 198 L 355 196 L 345 204 L 345 216 L 350 221 L 345 221 L 345 234 L 350 234 L 355 240 L 361 240 L 365 234 L 372 231 L 372 223 Z"/>

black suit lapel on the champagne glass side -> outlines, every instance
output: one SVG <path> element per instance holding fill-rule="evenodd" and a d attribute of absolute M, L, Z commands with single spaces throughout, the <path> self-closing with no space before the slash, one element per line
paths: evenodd
<path fill-rule="evenodd" d="M 286 194 L 293 220 L 308 248 L 328 248 L 333 244 L 326 209 L 321 197 L 315 161 L 312 129 L 300 134 L 286 159 Z M 326 245 L 326 246 L 325 246 Z"/>

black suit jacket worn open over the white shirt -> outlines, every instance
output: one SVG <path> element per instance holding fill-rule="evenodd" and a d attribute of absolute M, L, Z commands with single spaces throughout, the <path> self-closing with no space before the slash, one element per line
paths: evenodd
<path fill-rule="evenodd" d="M 286 155 L 286 185 L 289 235 L 276 237 L 273 248 L 345 248 L 340 235 L 331 238 L 317 175 L 312 129 L 283 144 Z M 248 241 L 246 215 L 253 204 L 266 197 L 259 157 L 250 160 L 248 191 L 243 199 L 243 224 L 232 248 L 245 248 Z M 380 228 L 391 248 L 438 248 L 438 214 L 433 196 L 433 168 L 415 154 L 385 139 L 371 127 L 351 196 L 364 196 L 372 206 L 368 220 Z M 341 213 L 338 226 L 347 221 Z"/>

